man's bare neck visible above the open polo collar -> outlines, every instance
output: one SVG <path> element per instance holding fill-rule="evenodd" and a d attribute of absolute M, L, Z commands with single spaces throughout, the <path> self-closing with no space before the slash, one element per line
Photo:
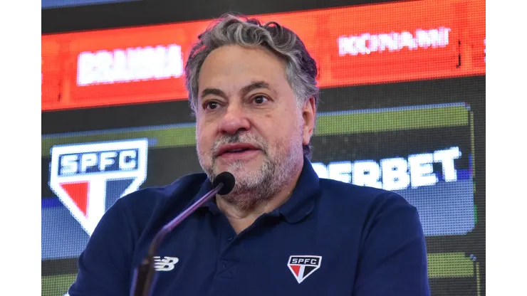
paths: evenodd
<path fill-rule="evenodd" d="M 245 228 L 251 226 L 259 216 L 274 211 L 289 199 L 293 189 L 295 189 L 301 171 L 302 169 L 298 170 L 296 176 L 291 179 L 286 186 L 283 186 L 283 189 L 278 191 L 277 194 L 274 194 L 271 199 L 258 203 L 254 207 L 249 209 L 240 208 L 239 206 L 236 206 L 236 204 L 229 203 L 229 201 L 222 199 L 221 196 L 216 196 L 216 205 L 227 217 L 232 228 L 234 228 L 234 231 L 236 231 L 236 233 L 241 233 Z"/>

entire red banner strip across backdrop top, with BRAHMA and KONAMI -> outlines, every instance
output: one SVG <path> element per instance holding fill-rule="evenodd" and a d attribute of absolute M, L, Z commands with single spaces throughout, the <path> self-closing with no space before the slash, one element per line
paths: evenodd
<path fill-rule="evenodd" d="M 328 88 L 484 75 L 484 5 L 408 1 L 256 17 L 298 33 Z M 42 110 L 186 99 L 184 63 L 209 22 L 43 36 Z"/>

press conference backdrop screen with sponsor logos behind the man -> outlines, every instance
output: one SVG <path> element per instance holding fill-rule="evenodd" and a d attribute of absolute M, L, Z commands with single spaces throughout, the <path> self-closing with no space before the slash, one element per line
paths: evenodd
<path fill-rule="evenodd" d="M 417 207 L 432 295 L 484 295 L 484 14 L 474 0 L 259 16 L 318 61 L 315 171 Z M 182 65 L 207 23 L 42 37 L 43 295 L 66 293 L 117 199 L 201 171 Z"/>

